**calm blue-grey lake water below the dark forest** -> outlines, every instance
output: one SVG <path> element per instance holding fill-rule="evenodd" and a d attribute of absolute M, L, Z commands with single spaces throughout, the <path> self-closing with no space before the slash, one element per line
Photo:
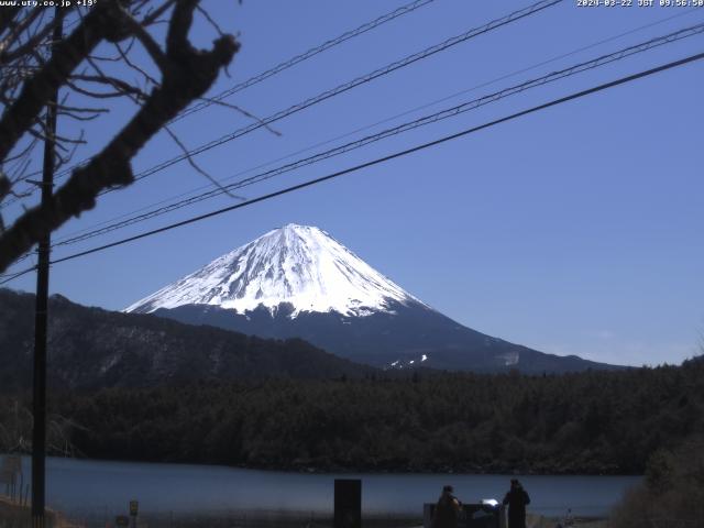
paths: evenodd
<path fill-rule="evenodd" d="M 23 460 L 31 475 L 30 459 Z M 501 498 L 507 475 L 465 474 L 306 474 L 223 466 L 147 464 L 47 459 L 47 504 L 67 514 L 123 513 L 130 499 L 141 513 L 266 509 L 329 513 L 333 480 L 362 479 L 366 513 L 417 514 L 435 502 L 444 484 L 464 503 Z M 559 516 L 608 514 L 638 476 L 518 476 L 532 499 L 530 512 Z M 25 481 L 26 482 L 26 481 Z"/>

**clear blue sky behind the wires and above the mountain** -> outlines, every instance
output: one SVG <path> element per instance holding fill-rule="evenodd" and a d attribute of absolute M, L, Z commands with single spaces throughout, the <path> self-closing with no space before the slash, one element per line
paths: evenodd
<path fill-rule="evenodd" d="M 222 76 L 211 94 L 404 3 L 205 2 L 223 30 L 239 33 L 242 43 L 230 78 Z M 529 4 L 436 0 L 228 101 L 266 117 Z M 273 125 L 280 135 L 260 130 L 197 162 L 226 178 L 461 91 L 465 94 L 328 146 L 702 22 L 704 9 L 581 8 L 563 1 L 284 119 Z M 626 32 L 631 33 L 466 91 Z M 205 46 L 213 36 L 200 20 L 194 40 Z M 703 48 L 700 34 L 240 194 L 254 198 Z M 324 229 L 411 294 L 482 332 L 596 361 L 679 363 L 696 353 L 704 331 L 703 81 L 704 63 L 690 64 L 338 180 L 58 264 L 51 288 L 77 302 L 120 309 L 270 229 L 296 222 Z M 103 144 L 131 111 L 122 103 L 101 122 L 88 123 L 90 141 L 77 158 Z M 177 122 L 174 131 L 195 147 L 249 122 L 213 106 Z M 61 121 L 58 127 L 76 129 Z M 138 156 L 134 168 L 178 153 L 161 134 Z M 207 185 L 188 164 L 177 164 L 106 195 L 55 239 Z M 64 248 L 55 256 L 230 204 L 229 197 L 208 200 Z M 11 286 L 32 290 L 34 277 Z"/>

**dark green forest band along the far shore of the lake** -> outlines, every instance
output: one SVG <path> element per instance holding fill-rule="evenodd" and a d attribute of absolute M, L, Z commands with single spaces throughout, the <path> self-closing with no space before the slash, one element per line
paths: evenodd
<path fill-rule="evenodd" d="M 1 398 L 0 422 L 18 396 Z M 29 399 L 20 397 L 21 405 Z M 302 471 L 642 473 L 704 433 L 704 361 L 560 376 L 194 383 L 54 393 L 85 457 Z"/>

